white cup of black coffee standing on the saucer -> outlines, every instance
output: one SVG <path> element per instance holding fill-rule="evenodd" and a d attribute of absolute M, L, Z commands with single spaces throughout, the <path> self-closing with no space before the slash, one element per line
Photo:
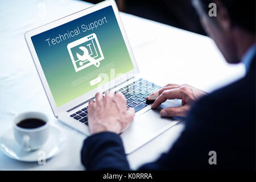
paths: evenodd
<path fill-rule="evenodd" d="M 17 126 L 20 121 L 31 118 L 41 119 L 46 124 L 33 129 Z M 16 142 L 18 142 L 24 151 L 38 150 L 46 143 L 49 136 L 49 119 L 46 114 L 35 111 L 18 114 L 14 118 L 13 132 Z"/>

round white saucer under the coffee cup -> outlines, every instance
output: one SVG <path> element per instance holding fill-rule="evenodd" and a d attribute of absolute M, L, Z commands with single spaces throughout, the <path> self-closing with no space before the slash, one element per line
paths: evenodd
<path fill-rule="evenodd" d="M 13 129 L 4 133 L 0 138 L 0 148 L 4 154 L 10 158 L 23 162 L 37 162 L 42 152 L 46 152 L 46 159 L 52 158 L 58 154 L 64 146 L 64 134 L 55 126 L 50 126 L 49 137 L 47 142 L 39 148 L 39 150 L 26 152 L 23 151 L 19 144 L 14 139 Z M 44 155 L 44 154 L 43 154 Z"/>

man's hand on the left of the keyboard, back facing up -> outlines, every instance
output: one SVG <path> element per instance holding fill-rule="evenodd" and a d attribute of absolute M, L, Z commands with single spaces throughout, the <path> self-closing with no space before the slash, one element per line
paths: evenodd
<path fill-rule="evenodd" d="M 88 123 L 90 134 L 110 131 L 121 133 L 133 121 L 135 111 L 126 109 L 126 99 L 122 93 L 106 92 L 95 95 L 96 101 L 90 101 L 88 106 Z"/>

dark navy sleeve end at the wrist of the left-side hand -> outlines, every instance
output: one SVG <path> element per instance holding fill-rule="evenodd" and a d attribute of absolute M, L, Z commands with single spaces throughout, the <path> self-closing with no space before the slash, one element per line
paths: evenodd
<path fill-rule="evenodd" d="M 87 170 L 129 170 L 123 143 L 111 132 L 94 134 L 84 140 L 81 160 Z"/>

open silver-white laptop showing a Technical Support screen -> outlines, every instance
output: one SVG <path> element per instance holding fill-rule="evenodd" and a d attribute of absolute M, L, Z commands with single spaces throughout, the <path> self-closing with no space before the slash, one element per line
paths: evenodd
<path fill-rule="evenodd" d="M 85 135 L 88 103 L 97 92 L 122 92 L 133 123 L 120 136 L 126 154 L 137 150 L 178 120 L 161 118 L 145 98 L 160 86 L 140 77 L 115 1 L 98 3 L 35 28 L 26 42 L 53 114 Z"/>

